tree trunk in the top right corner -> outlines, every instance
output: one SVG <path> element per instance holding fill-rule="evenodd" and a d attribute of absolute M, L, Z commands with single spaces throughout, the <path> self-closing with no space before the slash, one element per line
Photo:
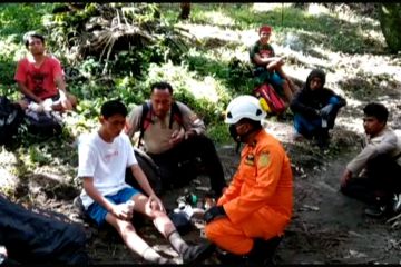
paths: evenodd
<path fill-rule="evenodd" d="M 401 3 L 382 3 L 379 20 L 390 50 L 392 52 L 401 51 Z"/>

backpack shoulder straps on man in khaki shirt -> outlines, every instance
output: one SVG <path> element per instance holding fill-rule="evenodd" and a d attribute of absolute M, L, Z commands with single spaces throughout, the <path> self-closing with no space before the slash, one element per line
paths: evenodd
<path fill-rule="evenodd" d="M 141 139 L 144 138 L 144 134 L 145 134 L 146 129 L 149 127 L 150 123 L 153 123 L 151 115 L 153 115 L 151 103 L 144 102 L 143 103 L 143 113 L 141 113 L 140 121 L 139 121 L 140 134 L 139 134 L 138 147 L 140 147 L 140 145 L 141 145 Z M 179 110 L 177 102 L 175 102 L 175 101 L 173 101 L 173 103 L 172 103 L 170 119 L 169 119 L 169 123 L 168 123 L 169 129 L 172 129 L 174 121 L 177 121 L 178 125 L 184 127 L 183 113 Z"/>

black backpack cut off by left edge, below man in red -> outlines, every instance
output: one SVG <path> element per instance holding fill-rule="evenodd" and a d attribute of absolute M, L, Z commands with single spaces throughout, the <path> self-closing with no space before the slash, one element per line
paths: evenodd
<path fill-rule="evenodd" d="M 23 119 L 19 105 L 12 103 L 7 97 L 0 97 L 0 145 L 8 145 L 18 134 Z"/>

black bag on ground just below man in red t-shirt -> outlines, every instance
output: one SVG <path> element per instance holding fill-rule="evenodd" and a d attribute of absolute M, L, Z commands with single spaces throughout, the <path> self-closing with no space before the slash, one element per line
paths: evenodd
<path fill-rule="evenodd" d="M 61 119 L 53 112 L 26 111 L 28 132 L 39 138 L 49 138 L 62 134 Z"/>

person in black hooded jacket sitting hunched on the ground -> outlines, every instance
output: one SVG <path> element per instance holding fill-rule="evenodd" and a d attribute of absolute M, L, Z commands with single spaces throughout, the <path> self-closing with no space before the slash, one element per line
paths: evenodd
<path fill-rule="evenodd" d="M 340 108 L 346 105 L 341 96 L 324 88 L 325 73 L 314 69 L 306 78 L 306 82 L 291 102 L 294 113 L 294 139 L 316 138 L 317 145 L 324 147 L 329 141 L 329 130 L 333 129 Z"/>

